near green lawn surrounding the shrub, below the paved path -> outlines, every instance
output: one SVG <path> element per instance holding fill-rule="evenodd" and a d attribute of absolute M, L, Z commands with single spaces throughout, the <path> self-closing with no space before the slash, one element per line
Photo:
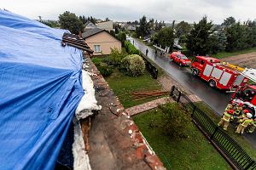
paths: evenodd
<path fill-rule="evenodd" d="M 154 124 L 162 122 L 161 114 L 159 109 L 151 110 L 133 116 L 133 120 L 167 169 L 231 169 L 192 122 L 189 122 L 187 129 L 189 138 L 180 140 L 166 136 L 160 126 L 150 127 L 150 122 L 154 121 Z"/>

